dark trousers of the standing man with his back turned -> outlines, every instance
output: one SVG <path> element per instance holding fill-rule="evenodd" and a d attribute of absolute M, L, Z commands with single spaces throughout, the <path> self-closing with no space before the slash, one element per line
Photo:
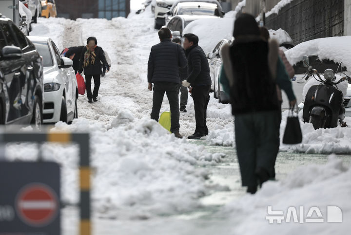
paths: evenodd
<path fill-rule="evenodd" d="M 179 131 L 179 84 L 173 82 L 156 82 L 154 84 L 153 108 L 151 119 L 158 122 L 164 93 L 166 92 L 171 109 L 171 132 Z"/>

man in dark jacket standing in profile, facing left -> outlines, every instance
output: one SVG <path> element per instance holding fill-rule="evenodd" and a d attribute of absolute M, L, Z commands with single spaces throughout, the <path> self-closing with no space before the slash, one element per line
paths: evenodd
<path fill-rule="evenodd" d="M 198 37 L 194 34 L 184 35 L 184 49 L 188 57 L 188 78 L 184 87 L 192 87 L 196 129 L 188 139 L 200 139 L 208 134 L 206 126 L 207 105 L 210 101 L 211 76 L 206 54 L 198 46 Z"/>

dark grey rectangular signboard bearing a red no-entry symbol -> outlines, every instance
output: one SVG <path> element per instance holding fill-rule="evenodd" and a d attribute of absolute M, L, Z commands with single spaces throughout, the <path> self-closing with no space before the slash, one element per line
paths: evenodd
<path fill-rule="evenodd" d="M 59 165 L 0 162 L 0 235 L 59 235 Z"/>

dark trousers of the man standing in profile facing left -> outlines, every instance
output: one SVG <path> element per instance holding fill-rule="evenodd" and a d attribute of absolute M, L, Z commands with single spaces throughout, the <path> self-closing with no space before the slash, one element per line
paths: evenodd
<path fill-rule="evenodd" d="M 206 126 L 206 118 L 207 118 L 207 105 L 210 101 L 210 90 L 211 90 L 211 85 L 193 87 L 192 97 L 194 100 L 195 121 L 196 121 L 195 133 L 198 132 L 203 135 L 208 134 L 208 128 Z"/>

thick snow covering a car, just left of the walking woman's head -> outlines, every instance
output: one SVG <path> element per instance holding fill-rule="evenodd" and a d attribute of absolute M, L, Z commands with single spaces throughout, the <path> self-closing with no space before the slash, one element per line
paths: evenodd
<path fill-rule="evenodd" d="M 233 30 L 233 18 L 196 19 L 185 27 L 183 34 L 197 35 L 199 46 L 205 53 L 209 53 L 221 39 L 230 40 L 233 36 Z"/>

